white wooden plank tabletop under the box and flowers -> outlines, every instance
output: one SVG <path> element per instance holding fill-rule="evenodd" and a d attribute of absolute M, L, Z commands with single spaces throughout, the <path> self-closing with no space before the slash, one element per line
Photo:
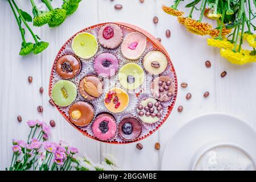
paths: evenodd
<path fill-rule="evenodd" d="M 16 2 L 20 8 L 31 13 L 28 0 Z M 46 51 L 39 55 L 22 57 L 19 56 L 21 38 L 14 15 L 11 13 L 9 3 L 0 0 L 0 169 L 10 165 L 11 139 L 26 139 L 28 119 L 37 118 L 46 122 L 53 119 L 56 127 L 52 129 L 51 140 L 67 141 L 79 148 L 80 155 L 86 153 L 94 162 L 101 162 L 103 153 L 113 154 L 119 160 L 119 166 L 122 169 L 133 170 L 159 169 L 163 149 L 168 139 L 196 115 L 211 112 L 234 114 L 256 129 L 256 64 L 237 66 L 223 59 L 218 49 L 207 46 L 206 37 L 188 33 L 177 23 L 175 17 L 163 13 L 162 4 L 171 5 L 171 2 L 83 0 L 76 13 L 68 16 L 59 27 L 31 26 L 42 40 L 50 44 Z M 117 3 L 123 5 L 122 10 L 114 9 Z M 155 15 L 159 17 L 158 24 L 152 23 Z M 63 43 L 82 28 L 112 21 L 134 24 L 162 38 L 162 44 L 170 54 L 177 73 L 179 89 L 174 110 L 168 121 L 156 133 L 141 141 L 144 146 L 141 151 L 135 147 L 136 143 L 105 144 L 84 137 L 65 121 L 55 107 L 48 103 L 49 73 Z M 171 30 L 169 39 L 165 36 L 167 29 Z M 28 32 L 26 37 L 32 40 Z M 211 61 L 211 68 L 205 67 L 206 60 Z M 224 78 L 220 77 L 222 71 L 228 73 Z M 28 83 L 28 76 L 33 77 L 31 84 Z M 181 82 L 187 82 L 188 87 L 181 88 Z M 40 86 L 44 88 L 43 95 L 39 93 Z M 208 98 L 203 97 L 205 91 L 210 93 Z M 189 101 L 185 100 L 188 92 L 192 94 Z M 44 108 L 42 114 L 37 111 L 39 105 Z M 177 112 L 179 105 L 184 106 L 182 113 Z M 17 121 L 17 115 L 22 116 L 21 123 Z M 159 151 L 154 148 L 155 142 L 161 144 Z M 182 146 L 183 143 L 180 145 Z"/>

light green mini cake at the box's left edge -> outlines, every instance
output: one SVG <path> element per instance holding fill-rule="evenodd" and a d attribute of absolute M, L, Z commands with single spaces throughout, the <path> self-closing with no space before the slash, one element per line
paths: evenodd
<path fill-rule="evenodd" d="M 59 80 L 53 85 L 51 95 L 55 104 L 68 106 L 76 99 L 76 85 L 68 80 Z"/>

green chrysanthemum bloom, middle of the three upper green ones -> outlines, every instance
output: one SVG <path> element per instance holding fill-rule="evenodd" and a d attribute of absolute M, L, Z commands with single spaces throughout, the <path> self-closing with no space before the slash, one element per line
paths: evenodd
<path fill-rule="evenodd" d="M 52 10 L 52 13 L 52 18 L 48 23 L 49 27 L 59 26 L 61 23 L 64 22 L 67 16 L 67 11 L 64 9 L 54 9 Z"/>

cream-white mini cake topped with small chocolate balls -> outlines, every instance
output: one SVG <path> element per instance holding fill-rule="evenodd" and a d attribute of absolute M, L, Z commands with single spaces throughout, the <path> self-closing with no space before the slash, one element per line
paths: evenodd
<path fill-rule="evenodd" d="M 162 117 L 162 106 L 154 98 L 147 98 L 137 106 L 137 113 L 143 122 L 155 123 Z"/>

